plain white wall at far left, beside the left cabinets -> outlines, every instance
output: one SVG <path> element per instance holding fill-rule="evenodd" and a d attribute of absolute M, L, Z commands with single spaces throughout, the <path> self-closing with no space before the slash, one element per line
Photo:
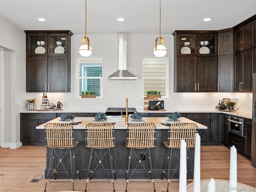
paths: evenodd
<path fill-rule="evenodd" d="M 4 141 L 1 147 L 17 148 L 20 143 L 20 111 L 25 110 L 26 93 L 26 36 L 23 30 L 0 17 L 0 46 L 5 51 Z M 17 105 L 17 100 L 21 104 Z M 5 110 L 4 109 L 4 110 Z"/>

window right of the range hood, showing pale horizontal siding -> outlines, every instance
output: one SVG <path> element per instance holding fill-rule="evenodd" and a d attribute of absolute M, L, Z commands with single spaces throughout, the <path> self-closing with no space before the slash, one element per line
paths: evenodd
<path fill-rule="evenodd" d="M 142 58 L 144 96 L 147 91 L 157 90 L 168 97 L 168 58 Z"/>

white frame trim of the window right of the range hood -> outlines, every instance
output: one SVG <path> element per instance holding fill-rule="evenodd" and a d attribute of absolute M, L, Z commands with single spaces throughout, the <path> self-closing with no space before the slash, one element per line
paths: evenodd
<path fill-rule="evenodd" d="M 155 59 L 156 57 L 142 57 L 142 60 L 144 58 L 147 59 Z M 142 76 L 142 98 L 144 98 L 144 79 L 152 79 L 152 78 L 158 78 L 158 79 L 166 79 L 165 82 L 165 96 L 162 96 L 161 98 L 169 98 L 169 58 L 166 58 L 166 77 L 158 77 L 158 76 L 152 76 L 152 77 L 143 77 L 143 68 L 141 70 L 141 76 Z M 143 67 L 143 66 L 142 66 Z"/>

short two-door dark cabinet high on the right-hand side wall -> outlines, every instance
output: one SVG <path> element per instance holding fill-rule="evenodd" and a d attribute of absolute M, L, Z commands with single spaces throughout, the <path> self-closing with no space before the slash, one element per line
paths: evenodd
<path fill-rule="evenodd" d="M 251 23 L 234 30 L 234 52 L 241 52 L 251 48 Z"/>

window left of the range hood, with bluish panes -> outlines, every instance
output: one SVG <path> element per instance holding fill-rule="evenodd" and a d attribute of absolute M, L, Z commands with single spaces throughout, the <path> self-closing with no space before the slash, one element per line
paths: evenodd
<path fill-rule="evenodd" d="M 101 58 L 78 58 L 78 96 L 82 91 L 94 91 L 96 96 L 102 96 Z"/>

